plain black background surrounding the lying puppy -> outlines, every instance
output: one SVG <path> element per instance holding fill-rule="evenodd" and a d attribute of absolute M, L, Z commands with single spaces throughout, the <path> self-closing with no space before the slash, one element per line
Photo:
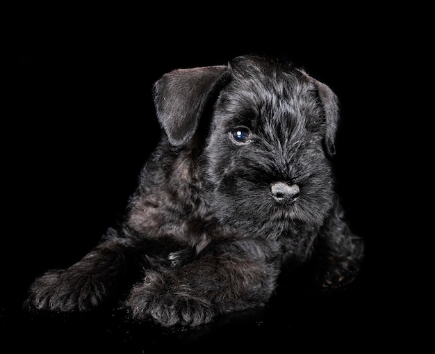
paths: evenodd
<path fill-rule="evenodd" d="M 396 129 L 405 113 L 403 106 L 393 109 L 401 98 L 392 65 L 406 66 L 413 46 L 407 26 L 386 24 L 370 11 L 345 19 L 294 11 L 274 22 L 279 9 L 228 12 L 214 21 L 177 9 L 177 17 L 118 10 L 62 9 L 56 20 L 27 11 L 10 26 L 0 313 L 10 348 L 416 350 L 426 336 L 416 316 L 427 313 L 418 310 L 427 286 L 416 277 L 422 268 L 412 268 L 413 220 L 402 206 L 409 185 L 397 188 L 405 149 Z M 192 331 L 132 323 L 115 309 L 22 312 L 34 277 L 81 259 L 122 214 L 160 134 L 152 83 L 178 67 L 222 65 L 243 54 L 291 61 L 338 95 L 334 163 L 347 218 L 366 240 L 359 279 L 334 296 L 284 287 L 262 311 Z M 407 176 L 400 173 L 402 181 Z"/>

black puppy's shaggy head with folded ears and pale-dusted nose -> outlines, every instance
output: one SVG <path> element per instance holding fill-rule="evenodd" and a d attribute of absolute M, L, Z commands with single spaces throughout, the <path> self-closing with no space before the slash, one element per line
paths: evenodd
<path fill-rule="evenodd" d="M 174 70 L 153 92 L 169 143 L 200 150 L 204 192 L 224 223 L 274 236 L 322 225 L 338 122 L 328 86 L 289 63 L 243 56 Z"/>

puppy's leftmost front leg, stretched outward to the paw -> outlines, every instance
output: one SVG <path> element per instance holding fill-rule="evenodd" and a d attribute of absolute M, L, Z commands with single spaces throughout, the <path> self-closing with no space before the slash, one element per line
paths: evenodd
<path fill-rule="evenodd" d="M 51 270 L 29 289 L 25 308 L 71 312 L 88 311 L 110 296 L 120 295 L 122 283 L 147 266 L 148 241 L 109 230 L 108 237 L 76 264 Z M 121 236 L 122 234 L 122 236 Z"/>

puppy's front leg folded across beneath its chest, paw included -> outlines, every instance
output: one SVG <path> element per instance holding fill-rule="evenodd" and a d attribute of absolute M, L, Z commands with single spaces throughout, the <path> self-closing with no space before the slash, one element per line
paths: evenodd
<path fill-rule="evenodd" d="M 270 250 L 269 250 L 270 251 Z M 200 325 L 214 316 L 264 305 L 277 280 L 277 264 L 256 241 L 222 242 L 167 271 L 147 271 L 126 300 L 133 317 L 163 326 Z"/>

